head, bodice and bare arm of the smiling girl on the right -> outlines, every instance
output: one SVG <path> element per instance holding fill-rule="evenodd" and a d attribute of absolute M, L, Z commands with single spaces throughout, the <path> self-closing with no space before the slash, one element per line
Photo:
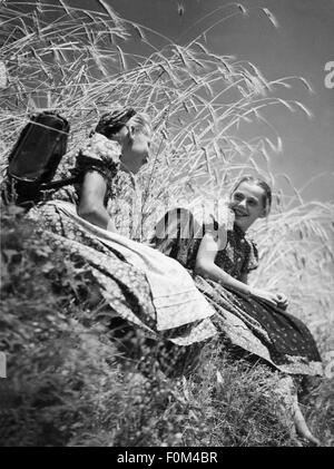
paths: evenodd
<path fill-rule="evenodd" d="M 288 301 L 283 293 L 247 285 L 247 274 L 257 267 L 258 260 L 257 248 L 247 240 L 245 233 L 257 218 L 264 218 L 269 214 L 271 187 L 264 180 L 245 176 L 232 192 L 228 206 L 235 216 L 234 231 L 225 232 L 222 226 L 219 231 L 205 234 L 198 248 L 195 272 L 205 279 L 217 281 L 225 287 L 236 290 L 237 293 L 257 297 L 272 306 L 286 309 Z M 230 248 L 234 250 L 234 258 L 229 258 Z M 218 252 L 220 255 L 217 257 Z M 229 273 L 230 268 L 233 272 Z"/>

